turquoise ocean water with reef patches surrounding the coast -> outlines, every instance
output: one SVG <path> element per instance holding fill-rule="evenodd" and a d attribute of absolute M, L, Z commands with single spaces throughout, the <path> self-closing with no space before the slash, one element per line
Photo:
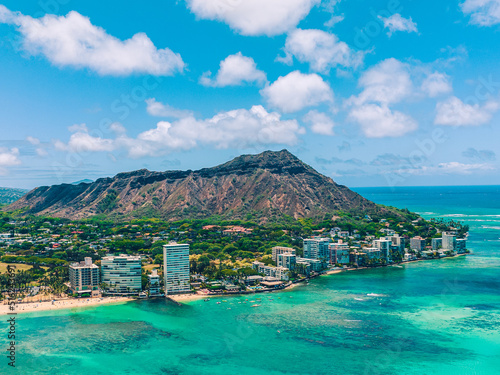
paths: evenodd
<path fill-rule="evenodd" d="M 0 373 L 500 374 L 500 187 L 356 190 L 463 220 L 472 254 L 324 276 L 256 302 L 20 315 L 18 367 L 3 357 Z"/>

